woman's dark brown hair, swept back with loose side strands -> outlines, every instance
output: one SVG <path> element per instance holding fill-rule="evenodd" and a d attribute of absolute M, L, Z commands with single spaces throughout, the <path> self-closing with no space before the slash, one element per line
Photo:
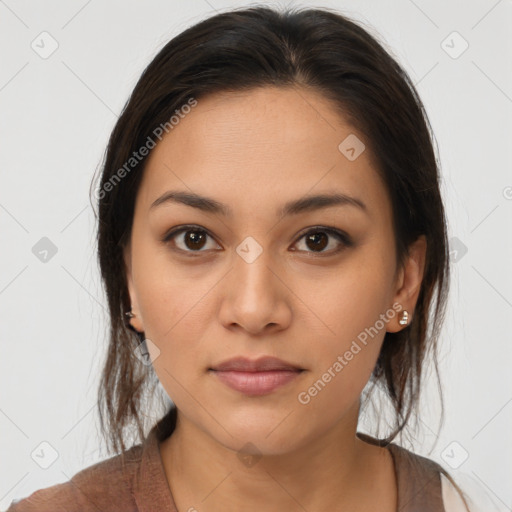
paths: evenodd
<path fill-rule="evenodd" d="M 143 439 L 144 391 L 156 382 L 152 366 L 134 357 L 143 336 L 139 339 L 126 327 L 124 316 L 130 298 L 123 249 L 147 157 L 122 173 L 122 179 L 118 171 L 126 170 L 133 152 L 191 98 L 200 102 L 217 92 L 265 86 L 320 93 L 365 137 L 392 203 L 397 268 L 409 245 L 426 237 L 425 273 L 412 322 L 400 332 L 386 333 L 371 377 L 394 411 L 384 443 L 416 412 L 427 360 L 434 362 L 438 376 L 436 347 L 449 253 L 432 130 L 411 79 L 370 29 L 337 12 L 259 6 L 232 10 L 188 28 L 159 51 L 126 103 L 104 157 L 96 191 L 97 242 L 110 333 L 98 403 L 102 432 L 114 452 L 125 449 L 125 427 L 136 425 Z"/>

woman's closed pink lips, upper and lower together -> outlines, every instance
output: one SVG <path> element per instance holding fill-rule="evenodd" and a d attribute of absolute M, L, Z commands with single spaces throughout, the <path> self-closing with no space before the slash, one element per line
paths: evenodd
<path fill-rule="evenodd" d="M 271 393 L 295 379 L 303 370 L 275 357 L 250 360 L 236 357 L 210 368 L 221 382 L 246 395 Z"/>

